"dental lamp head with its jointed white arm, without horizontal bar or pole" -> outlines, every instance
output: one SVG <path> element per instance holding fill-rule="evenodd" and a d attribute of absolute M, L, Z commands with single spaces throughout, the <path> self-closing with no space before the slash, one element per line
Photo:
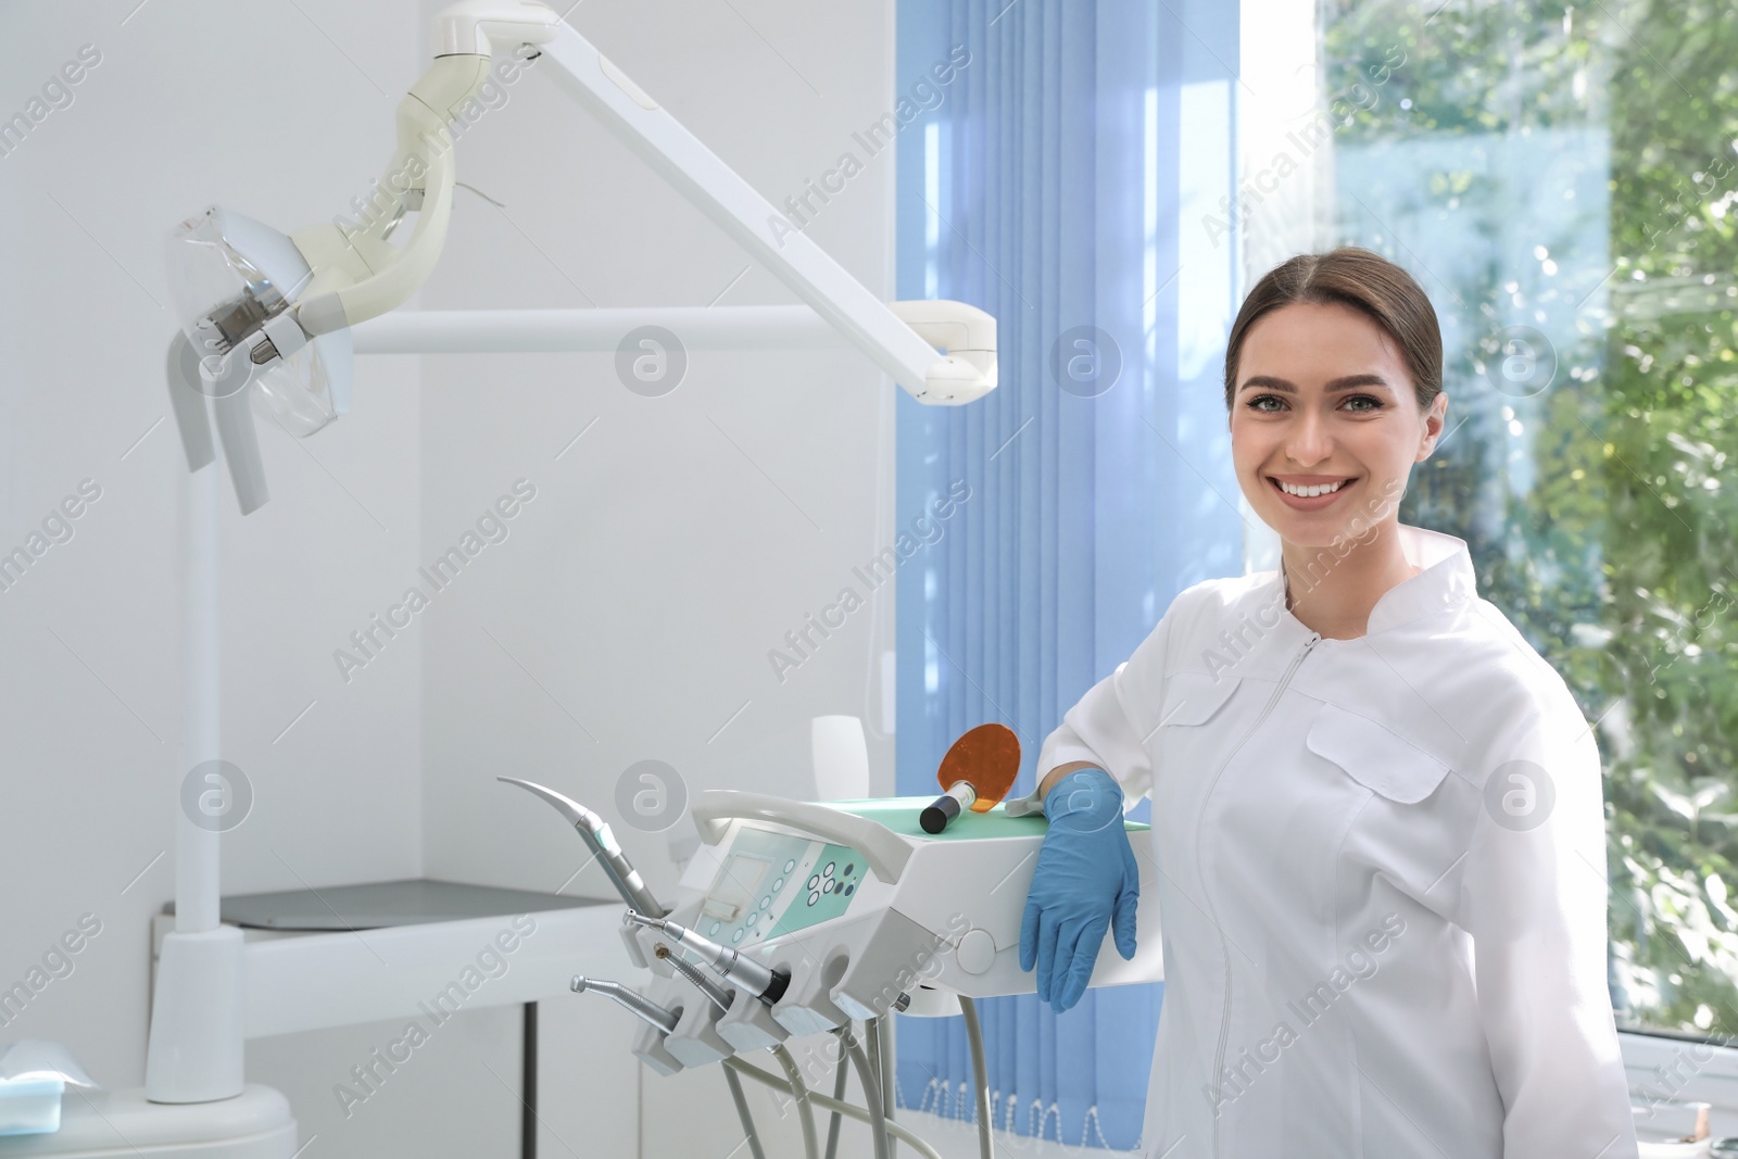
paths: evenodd
<path fill-rule="evenodd" d="M 249 419 L 254 394 L 301 436 L 349 410 L 349 330 L 408 301 L 440 261 L 455 182 L 448 123 L 504 45 L 547 57 L 568 96 L 918 401 L 961 405 L 996 387 L 992 316 L 963 302 L 879 301 L 553 9 L 462 0 L 436 17 L 436 43 L 434 63 L 398 104 L 398 142 L 360 221 L 285 238 L 212 207 L 170 238 L 184 334 L 170 349 L 169 382 L 188 467 L 210 460 L 203 394 L 216 400 L 243 514 L 268 499 Z M 408 240 L 393 243 L 412 212 Z"/>

